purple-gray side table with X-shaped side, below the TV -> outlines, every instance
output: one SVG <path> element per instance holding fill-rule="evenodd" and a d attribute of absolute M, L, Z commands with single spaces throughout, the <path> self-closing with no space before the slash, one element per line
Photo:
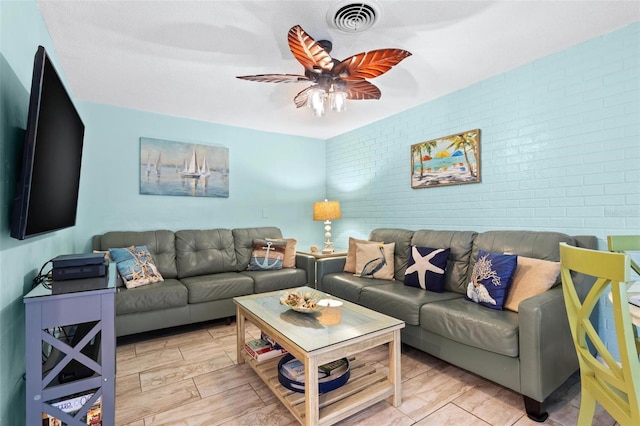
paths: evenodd
<path fill-rule="evenodd" d="M 115 269 L 106 288 L 52 294 L 39 284 L 24 296 L 27 425 L 51 416 L 86 426 L 82 418 L 98 400 L 101 424 L 115 424 Z M 97 353 L 87 356 L 93 344 Z"/>

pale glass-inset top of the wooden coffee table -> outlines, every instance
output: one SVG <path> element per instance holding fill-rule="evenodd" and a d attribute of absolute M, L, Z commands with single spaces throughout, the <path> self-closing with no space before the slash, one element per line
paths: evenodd
<path fill-rule="evenodd" d="M 301 291 L 321 293 L 310 287 Z M 280 296 L 287 290 L 235 297 L 236 304 L 278 330 L 306 352 L 312 352 L 350 339 L 390 328 L 404 327 L 404 321 L 381 314 L 355 303 L 340 300 L 342 320 L 338 325 L 323 325 L 318 321 L 321 312 L 301 313 L 280 304 Z M 290 290 L 289 290 L 290 291 Z"/>

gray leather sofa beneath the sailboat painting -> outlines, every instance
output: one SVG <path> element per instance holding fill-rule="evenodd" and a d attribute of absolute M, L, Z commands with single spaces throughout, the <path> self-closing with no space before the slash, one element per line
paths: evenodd
<path fill-rule="evenodd" d="M 94 250 L 146 245 L 163 282 L 116 293 L 116 336 L 232 317 L 233 298 L 313 285 L 312 256 L 296 254 L 296 268 L 247 271 L 254 239 L 282 238 L 276 227 L 107 232 Z"/>

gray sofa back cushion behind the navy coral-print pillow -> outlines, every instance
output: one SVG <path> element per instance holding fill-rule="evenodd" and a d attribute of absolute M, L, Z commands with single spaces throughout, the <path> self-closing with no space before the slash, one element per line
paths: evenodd
<path fill-rule="evenodd" d="M 576 245 L 576 240 L 561 232 L 546 231 L 487 231 L 478 234 L 473 242 L 471 267 L 478 259 L 478 251 L 509 253 L 534 259 L 560 261 L 560 243 Z M 471 269 L 469 269 L 471 271 Z M 469 275 L 467 279 L 470 279 Z M 560 277 L 556 284 L 560 282 Z"/>

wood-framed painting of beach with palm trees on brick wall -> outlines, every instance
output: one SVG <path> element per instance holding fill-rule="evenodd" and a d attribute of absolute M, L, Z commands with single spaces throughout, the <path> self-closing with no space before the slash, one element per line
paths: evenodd
<path fill-rule="evenodd" d="M 411 188 L 480 182 L 480 129 L 411 145 Z"/>

